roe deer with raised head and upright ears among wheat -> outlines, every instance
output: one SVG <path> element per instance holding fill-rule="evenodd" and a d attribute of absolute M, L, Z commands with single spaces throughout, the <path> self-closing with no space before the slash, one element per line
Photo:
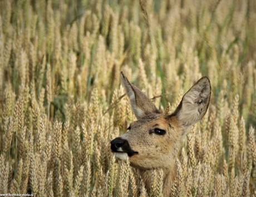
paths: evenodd
<path fill-rule="evenodd" d="M 131 85 L 122 72 L 121 82 L 138 120 L 131 123 L 126 134 L 110 142 L 111 150 L 117 158 L 129 159 L 130 165 L 139 169 L 148 191 L 150 177 L 147 170 L 163 169 L 163 195 L 170 196 L 176 171 L 175 160 L 184 136 L 189 127 L 205 115 L 209 106 L 209 78 L 200 78 L 170 115 L 160 114 L 149 97 Z"/>

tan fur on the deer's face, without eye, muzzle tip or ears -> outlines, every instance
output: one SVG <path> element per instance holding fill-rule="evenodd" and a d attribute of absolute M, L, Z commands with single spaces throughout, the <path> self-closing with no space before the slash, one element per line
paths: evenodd
<path fill-rule="evenodd" d="M 150 131 L 155 128 L 166 131 L 165 135 L 157 135 Z M 139 152 L 130 157 L 132 166 L 139 169 L 170 168 L 176 150 L 173 147 L 178 140 L 178 122 L 175 117 L 169 118 L 161 114 L 150 114 L 132 122 L 131 129 L 120 136 L 129 141 L 132 150 Z"/>

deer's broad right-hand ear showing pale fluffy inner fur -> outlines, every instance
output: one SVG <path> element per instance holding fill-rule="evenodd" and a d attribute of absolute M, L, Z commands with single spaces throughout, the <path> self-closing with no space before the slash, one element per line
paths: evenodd
<path fill-rule="evenodd" d="M 202 77 L 183 96 L 179 106 L 171 116 L 176 116 L 184 126 L 198 122 L 206 113 L 211 96 L 208 77 Z"/>

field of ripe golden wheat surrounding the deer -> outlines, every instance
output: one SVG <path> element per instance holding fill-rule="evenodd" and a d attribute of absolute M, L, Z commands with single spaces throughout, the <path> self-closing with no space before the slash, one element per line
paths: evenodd
<path fill-rule="evenodd" d="M 210 78 L 173 196 L 256 196 L 255 21 L 254 0 L 0 1 L 0 194 L 162 196 L 110 151 L 123 71 L 166 114 Z"/>

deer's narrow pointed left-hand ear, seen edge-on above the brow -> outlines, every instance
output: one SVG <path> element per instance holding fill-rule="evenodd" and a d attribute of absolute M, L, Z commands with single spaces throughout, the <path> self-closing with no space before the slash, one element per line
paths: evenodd
<path fill-rule="evenodd" d="M 136 86 L 131 85 L 123 72 L 121 72 L 121 83 L 125 88 L 126 94 L 129 96 L 132 111 L 137 119 L 147 114 L 160 113 L 149 97 L 142 93 Z"/>

